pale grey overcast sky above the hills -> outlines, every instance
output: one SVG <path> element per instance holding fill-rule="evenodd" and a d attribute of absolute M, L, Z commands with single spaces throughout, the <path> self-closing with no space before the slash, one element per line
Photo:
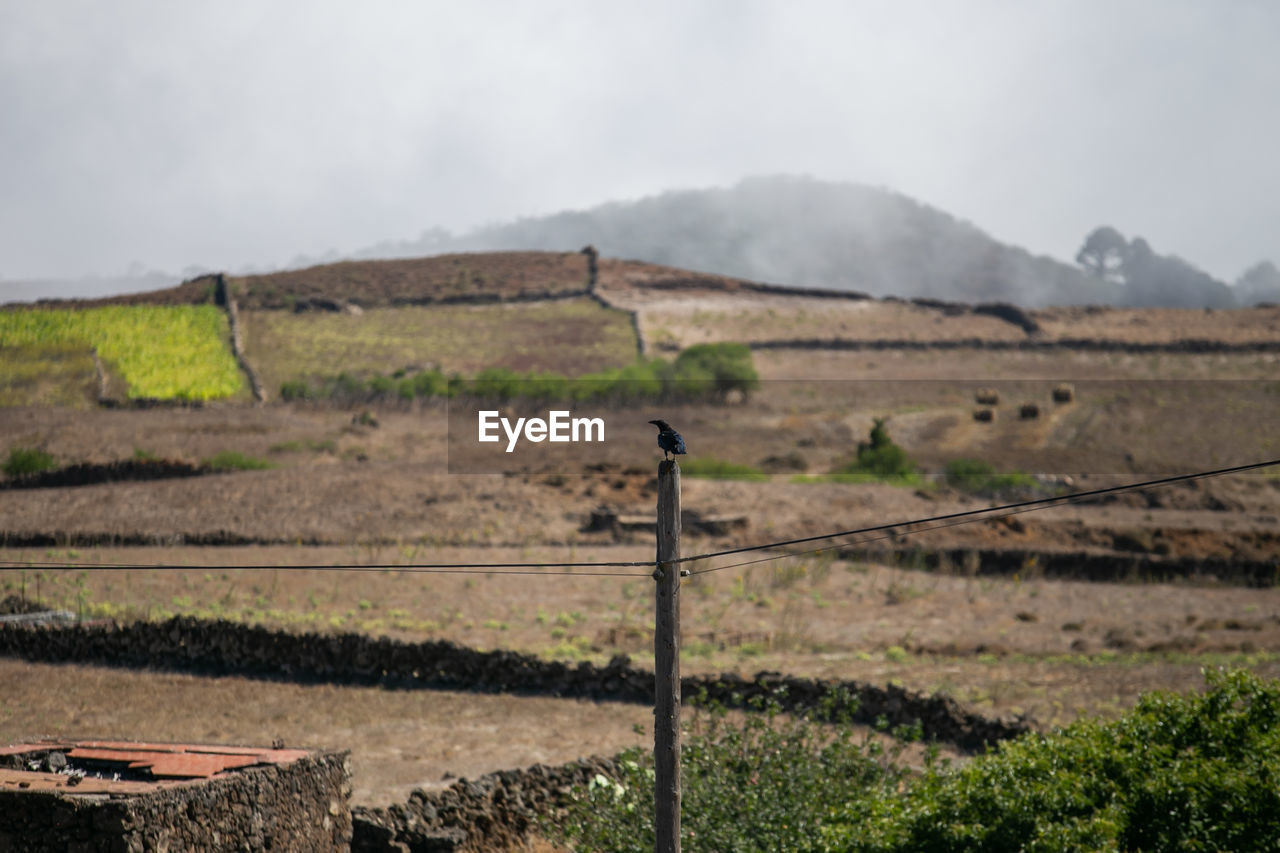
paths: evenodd
<path fill-rule="evenodd" d="M 0 278 L 791 173 L 1234 280 L 1280 263 L 1277 35 L 1271 0 L 0 0 Z"/>

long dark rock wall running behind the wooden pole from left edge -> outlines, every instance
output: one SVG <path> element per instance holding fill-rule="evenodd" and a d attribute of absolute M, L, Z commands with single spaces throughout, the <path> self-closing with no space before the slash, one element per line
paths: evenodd
<path fill-rule="evenodd" d="M 160 667 L 214 675 L 250 675 L 302 683 L 378 684 L 639 702 L 654 701 L 653 672 L 626 656 L 604 666 L 576 666 L 517 652 L 479 652 L 443 640 L 406 643 L 364 634 L 293 634 L 227 621 L 174 617 L 127 625 L 3 626 L 0 654 L 28 661 L 74 661 Z M 888 685 L 760 672 L 686 676 L 686 702 L 750 707 L 772 698 L 786 711 L 817 711 L 833 689 L 856 699 L 855 722 L 919 724 L 928 740 L 979 751 L 1016 736 L 1024 720 L 987 719 L 942 695 Z"/>

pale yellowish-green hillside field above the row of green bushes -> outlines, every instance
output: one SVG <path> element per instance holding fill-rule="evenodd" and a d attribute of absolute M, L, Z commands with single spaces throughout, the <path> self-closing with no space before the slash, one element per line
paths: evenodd
<path fill-rule="evenodd" d="M 502 366 L 577 374 L 636 355 L 625 311 L 591 300 L 370 309 L 358 315 L 242 311 L 248 359 L 268 388 L 339 373 Z"/>

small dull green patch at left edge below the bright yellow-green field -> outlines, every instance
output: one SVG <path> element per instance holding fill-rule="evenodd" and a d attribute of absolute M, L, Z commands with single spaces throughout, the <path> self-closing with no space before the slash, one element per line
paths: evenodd
<path fill-rule="evenodd" d="M 0 346 L 0 406 L 84 407 L 96 400 L 97 370 L 91 347 Z"/>

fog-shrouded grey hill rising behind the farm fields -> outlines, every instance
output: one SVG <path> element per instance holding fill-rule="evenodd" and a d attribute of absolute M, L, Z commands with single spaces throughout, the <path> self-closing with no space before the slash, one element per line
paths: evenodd
<path fill-rule="evenodd" d="M 1170 280 L 1162 287 L 1151 275 L 1126 282 L 1091 274 L 1083 266 L 1001 243 L 970 223 L 890 190 L 797 177 L 666 192 L 462 236 L 434 229 L 416 241 L 381 243 L 357 256 L 568 250 L 589 243 L 608 257 L 874 296 L 1184 307 L 1228 307 L 1268 296 L 1267 287 L 1248 288 L 1247 295 L 1240 288 L 1239 296 L 1247 298 L 1238 300 L 1233 288 L 1178 259 L 1160 269 L 1170 275 L 1187 273 L 1189 283 Z M 1280 289 L 1271 298 L 1280 298 Z"/>

